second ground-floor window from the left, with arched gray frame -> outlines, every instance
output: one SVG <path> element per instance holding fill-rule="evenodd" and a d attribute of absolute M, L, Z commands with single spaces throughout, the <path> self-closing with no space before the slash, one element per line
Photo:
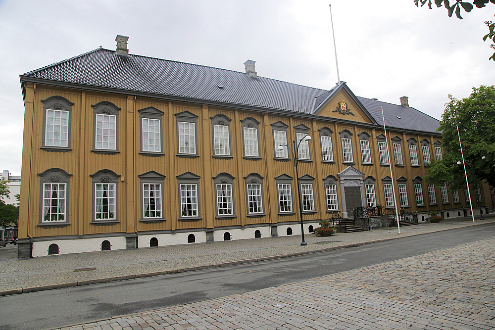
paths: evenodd
<path fill-rule="evenodd" d="M 118 180 L 120 175 L 99 170 L 93 178 L 93 221 L 96 226 L 114 225 L 118 220 Z"/>

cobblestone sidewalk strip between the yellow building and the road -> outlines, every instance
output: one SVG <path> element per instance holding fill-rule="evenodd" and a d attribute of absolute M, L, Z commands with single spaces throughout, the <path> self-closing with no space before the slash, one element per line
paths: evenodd
<path fill-rule="evenodd" d="M 300 246 L 300 236 L 284 236 L 22 260 L 17 260 L 17 249 L 2 248 L 0 296 L 256 262 L 495 222 L 495 215 L 485 217 L 486 220 L 475 223 L 470 218 L 457 218 L 402 227 L 400 235 L 396 228 L 330 237 L 306 235 L 307 246 Z"/>

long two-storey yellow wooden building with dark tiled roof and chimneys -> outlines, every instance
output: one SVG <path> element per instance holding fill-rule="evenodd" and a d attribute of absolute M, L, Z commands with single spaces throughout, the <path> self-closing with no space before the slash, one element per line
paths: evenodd
<path fill-rule="evenodd" d="M 439 121 L 408 105 L 97 48 L 20 76 L 19 257 L 300 235 L 356 206 L 464 216 L 426 185 Z M 385 113 L 385 137 L 381 108 Z M 387 150 L 390 153 L 390 161 Z M 391 167 L 394 181 L 391 179 Z"/>

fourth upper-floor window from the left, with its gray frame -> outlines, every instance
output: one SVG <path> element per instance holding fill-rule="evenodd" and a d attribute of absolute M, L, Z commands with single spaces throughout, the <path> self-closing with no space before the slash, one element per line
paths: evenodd
<path fill-rule="evenodd" d="M 177 156 L 196 158 L 198 154 L 198 116 L 189 111 L 175 114 L 177 120 Z"/>

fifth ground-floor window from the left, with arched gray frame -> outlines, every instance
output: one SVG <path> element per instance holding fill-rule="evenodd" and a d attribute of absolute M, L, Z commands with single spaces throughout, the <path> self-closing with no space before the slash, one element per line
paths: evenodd
<path fill-rule="evenodd" d="M 216 217 L 218 219 L 235 218 L 233 185 L 234 177 L 228 173 L 219 173 L 213 178 L 215 185 Z"/>

